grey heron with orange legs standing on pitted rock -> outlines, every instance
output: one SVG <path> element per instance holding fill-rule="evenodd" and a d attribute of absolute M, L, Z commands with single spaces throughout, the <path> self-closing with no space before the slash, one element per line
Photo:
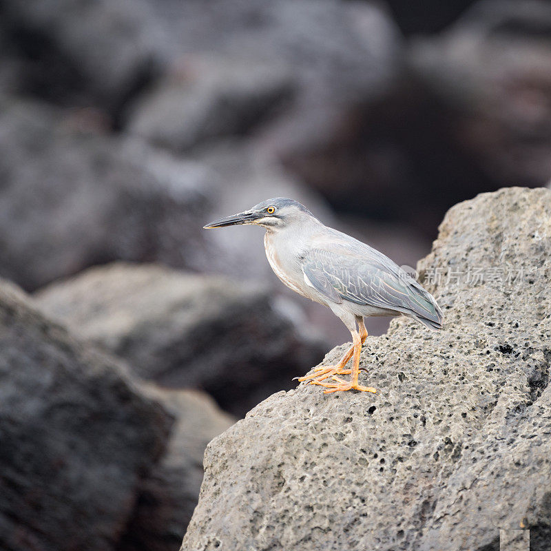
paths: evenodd
<path fill-rule="evenodd" d="M 331 308 L 352 334 L 353 345 L 340 362 L 313 368 L 299 381 L 324 386 L 325 393 L 351 389 L 375 393 L 375 388 L 358 384 L 360 353 L 367 337 L 364 318 L 407 315 L 428 329 L 441 329 L 442 312 L 417 281 L 383 253 L 324 226 L 300 202 L 269 199 L 214 220 L 205 229 L 240 224 L 264 227 L 264 248 L 275 275 L 293 291 Z M 351 357 L 352 368 L 346 369 Z M 351 375 L 351 380 L 337 375 Z M 335 382 L 327 382 L 329 377 Z"/>

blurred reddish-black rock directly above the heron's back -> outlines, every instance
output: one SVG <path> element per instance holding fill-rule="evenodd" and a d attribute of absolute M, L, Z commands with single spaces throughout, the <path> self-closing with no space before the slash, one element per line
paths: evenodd
<path fill-rule="evenodd" d="M 404 74 L 386 96 L 351 105 L 323 142 L 289 147 L 280 160 L 340 216 L 405 223 L 427 242 L 451 205 L 499 187 L 454 145 L 439 103 Z"/>

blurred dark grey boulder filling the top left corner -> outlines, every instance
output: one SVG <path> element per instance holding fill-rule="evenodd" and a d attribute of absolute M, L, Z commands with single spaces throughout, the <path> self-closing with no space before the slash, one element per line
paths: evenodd
<path fill-rule="evenodd" d="M 163 67 L 163 32 L 143 0 L 3 0 L 0 19 L 21 69 L 12 92 L 116 115 Z"/>

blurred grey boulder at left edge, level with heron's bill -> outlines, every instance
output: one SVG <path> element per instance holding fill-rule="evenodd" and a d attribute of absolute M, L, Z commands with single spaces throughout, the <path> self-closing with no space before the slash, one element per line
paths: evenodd
<path fill-rule="evenodd" d="M 119 258 L 200 264 L 211 172 L 94 123 L 0 99 L 0 274 L 25 289 Z"/>

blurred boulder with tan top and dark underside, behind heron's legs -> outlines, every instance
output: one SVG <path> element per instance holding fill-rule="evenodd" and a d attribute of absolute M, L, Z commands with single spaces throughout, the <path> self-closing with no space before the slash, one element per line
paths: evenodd
<path fill-rule="evenodd" d="M 317 364 L 323 344 L 265 287 L 116 263 L 57 282 L 37 304 L 166 386 L 201 388 L 235 415 Z"/>

